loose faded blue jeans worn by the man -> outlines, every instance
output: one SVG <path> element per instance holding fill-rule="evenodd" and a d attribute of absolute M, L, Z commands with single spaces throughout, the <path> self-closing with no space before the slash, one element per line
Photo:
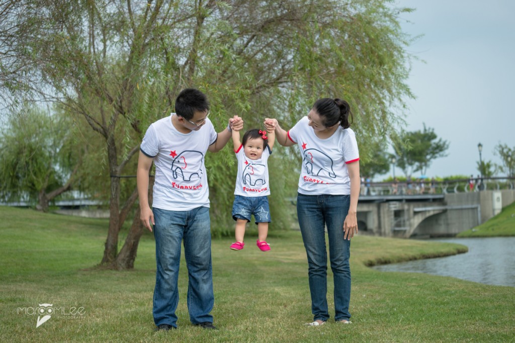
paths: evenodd
<path fill-rule="evenodd" d="M 154 322 L 177 327 L 175 311 L 179 303 L 177 280 L 181 260 L 181 242 L 188 269 L 187 305 L 193 324 L 213 322 L 213 269 L 211 266 L 211 222 L 209 208 L 191 211 L 152 209 L 156 225 L 156 288 Z"/>

